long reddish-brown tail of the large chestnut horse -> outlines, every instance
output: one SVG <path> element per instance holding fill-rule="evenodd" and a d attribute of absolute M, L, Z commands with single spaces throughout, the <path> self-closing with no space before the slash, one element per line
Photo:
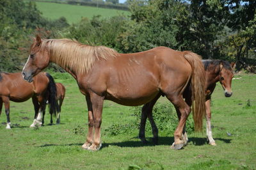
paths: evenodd
<path fill-rule="evenodd" d="M 190 89 L 192 92 L 192 112 L 195 130 L 202 130 L 205 116 L 205 71 L 201 57 L 197 54 L 185 51 L 184 58 L 192 67 Z"/>

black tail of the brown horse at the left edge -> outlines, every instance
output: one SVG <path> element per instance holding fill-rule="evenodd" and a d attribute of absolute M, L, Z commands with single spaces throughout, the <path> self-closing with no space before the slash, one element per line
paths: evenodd
<path fill-rule="evenodd" d="M 57 93 L 57 88 L 56 88 L 56 84 L 54 82 L 53 77 L 49 74 L 46 73 L 46 76 L 49 79 L 49 83 L 48 83 L 48 103 L 49 103 L 49 112 L 50 114 L 54 114 L 54 116 L 56 116 L 56 111 L 58 111 L 58 102 L 56 101 L 56 93 Z"/>

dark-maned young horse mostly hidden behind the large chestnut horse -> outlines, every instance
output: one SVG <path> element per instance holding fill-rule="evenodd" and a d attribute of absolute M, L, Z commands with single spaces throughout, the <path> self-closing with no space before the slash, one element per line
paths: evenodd
<path fill-rule="evenodd" d="M 212 138 L 212 130 L 211 130 L 211 95 L 216 87 L 216 83 L 220 82 L 222 88 L 224 89 L 225 97 L 231 97 L 232 90 L 231 90 L 231 83 L 232 78 L 234 77 L 233 69 L 235 63 L 228 63 L 228 61 L 223 61 L 220 59 L 207 59 L 202 60 L 205 68 L 205 109 L 206 109 L 206 134 L 209 144 L 212 146 L 216 146 L 214 139 Z M 159 96 L 160 97 L 160 96 Z M 186 96 L 184 96 L 186 98 Z M 156 103 L 155 100 L 152 103 Z M 191 105 L 188 104 L 189 106 Z M 152 134 L 153 134 L 153 143 L 158 143 L 158 130 L 156 127 L 156 123 L 152 117 L 152 109 L 153 105 L 145 105 L 145 108 L 142 108 L 141 111 L 141 123 L 140 123 L 140 132 L 139 138 L 143 143 L 147 143 L 145 139 L 145 124 L 148 120 L 150 121 L 150 125 L 152 127 Z M 186 143 L 188 142 L 188 136 L 186 134 L 186 130 L 184 130 L 184 137 L 186 138 Z"/>

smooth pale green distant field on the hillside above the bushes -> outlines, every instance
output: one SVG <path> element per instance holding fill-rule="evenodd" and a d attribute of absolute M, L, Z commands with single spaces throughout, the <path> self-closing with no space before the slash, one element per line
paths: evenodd
<path fill-rule="evenodd" d="M 43 13 L 44 17 L 48 19 L 59 19 L 60 17 L 65 17 L 69 24 L 79 22 L 82 17 L 91 19 L 94 15 L 101 15 L 102 17 L 113 17 L 115 15 L 130 14 L 129 12 L 123 10 L 47 2 L 36 2 L 36 6 L 38 10 Z"/>

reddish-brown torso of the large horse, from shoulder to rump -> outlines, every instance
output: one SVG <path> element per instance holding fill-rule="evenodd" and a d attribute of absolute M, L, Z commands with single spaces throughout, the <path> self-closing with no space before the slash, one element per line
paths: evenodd
<path fill-rule="evenodd" d="M 106 91 L 106 98 L 119 104 L 140 105 L 156 97 L 164 86 L 173 89 L 184 86 L 190 76 L 191 66 L 182 52 L 156 47 L 98 62 L 86 85 L 99 91 L 99 95 Z"/>

